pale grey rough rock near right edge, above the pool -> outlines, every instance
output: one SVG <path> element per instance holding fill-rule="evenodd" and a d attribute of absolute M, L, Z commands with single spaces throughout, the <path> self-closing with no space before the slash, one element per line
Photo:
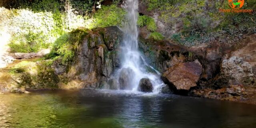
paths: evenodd
<path fill-rule="evenodd" d="M 254 74 L 250 63 L 236 56 L 223 60 L 221 65 L 221 78 L 226 78 L 229 84 L 254 84 Z"/>

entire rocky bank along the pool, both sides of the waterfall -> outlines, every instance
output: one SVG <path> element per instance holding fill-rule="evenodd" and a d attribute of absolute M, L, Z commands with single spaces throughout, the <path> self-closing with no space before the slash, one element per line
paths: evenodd
<path fill-rule="evenodd" d="M 56 54 L 65 48 L 58 46 L 43 57 L 15 60 L 1 69 L 0 90 L 15 93 L 42 89 L 116 90 L 118 83 L 126 88 L 129 81 L 125 73 L 118 80 L 111 79 L 121 61 L 123 33 L 119 28 L 78 28 L 70 35 L 79 39 L 70 49 L 73 58 Z M 139 47 L 168 85 L 162 92 L 256 104 L 255 39 L 252 34 L 234 46 L 212 42 L 188 48 L 169 41 L 140 38 Z M 50 56 L 52 53 L 54 57 Z M 139 87 L 141 91 L 152 92 L 146 78 Z"/>

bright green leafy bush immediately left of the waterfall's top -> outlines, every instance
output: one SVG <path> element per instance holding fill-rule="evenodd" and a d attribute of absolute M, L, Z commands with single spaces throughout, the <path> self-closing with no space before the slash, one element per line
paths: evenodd
<path fill-rule="evenodd" d="M 122 26 L 126 12 L 116 5 L 102 6 L 93 16 L 94 27 Z"/>

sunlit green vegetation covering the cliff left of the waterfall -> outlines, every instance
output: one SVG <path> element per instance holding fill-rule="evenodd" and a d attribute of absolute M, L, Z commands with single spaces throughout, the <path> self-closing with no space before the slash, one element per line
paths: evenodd
<path fill-rule="evenodd" d="M 5 5 L 7 8 L 16 9 L 0 8 L 0 20 L 3 21 L 0 24 L 0 34 L 6 32 L 10 34 L 6 44 L 10 46 L 11 52 L 38 52 L 43 48 L 51 48 L 57 38 L 80 26 L 90 29 L 122 26 L 126 12 L 116 6 L 120 0 L 114 0 L 111 6 L 101 6 L 97 11 L 95 10 L 98 4 L 95 2 L 95 0 L 7 2 Z M 68 56 L 66 58 L 69 60 Z"/>

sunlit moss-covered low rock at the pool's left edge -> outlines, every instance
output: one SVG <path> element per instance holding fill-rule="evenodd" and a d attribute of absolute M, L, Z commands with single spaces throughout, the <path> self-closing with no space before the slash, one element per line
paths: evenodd
<path fill-rule="evenodd" d="M 52 60 L 32 59 L 15 62 L 14 66 L 8 67 L 6 76 L 14 82 L 10 82 L 12 88 L 46 89 L 58 88 L 58 76 L 54 69 L 47 65 Z"/>

